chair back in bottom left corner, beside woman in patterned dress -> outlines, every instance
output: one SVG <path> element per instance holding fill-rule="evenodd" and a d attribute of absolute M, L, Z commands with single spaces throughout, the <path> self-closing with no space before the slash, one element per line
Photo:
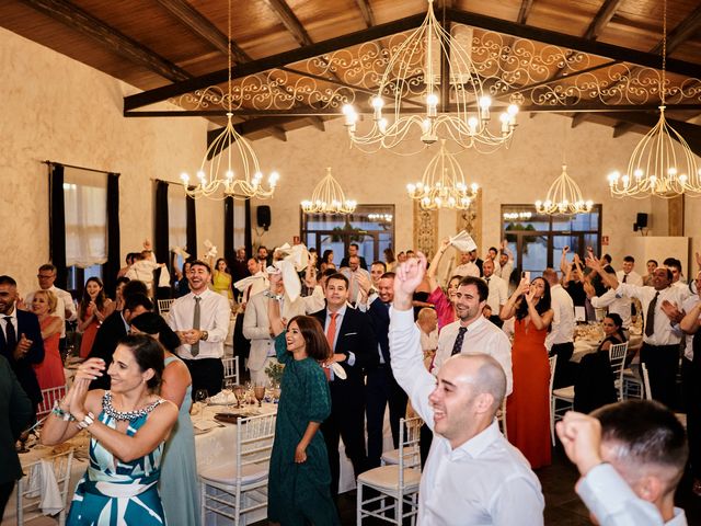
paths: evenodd
<path fill-rule="evenodd" d="M 73 448 L 55 455 L 53 457 L 43 458 L 35 462 L 22 466 L 24 470 L 24 477 L 20 479 L 16 488 L 16 518 L 18 524 L 24 524 L 25 515 L 30 515 L 28 518 L 36 518 L 42 515 L 39 510 L 39 503 L 42 501 L 44 488 L 42 485 L 42 471 L 43 462 L 48 462 L 56 478 L 56 484 L 58 485 L 58 492 L 60 495 L 60 502 L 62 508 L 58 514 L 58 524 L 64 526 L 66 524 L 67 500 L 68 500 L 68 484 L 70 482 L 70 468 L 73 464 Z"/>

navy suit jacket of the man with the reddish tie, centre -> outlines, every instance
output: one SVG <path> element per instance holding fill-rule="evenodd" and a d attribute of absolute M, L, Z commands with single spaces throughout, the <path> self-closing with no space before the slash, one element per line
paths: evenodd
<path fill-rule="evenodd" d="M 322 329 L 326 322 L 326 309 L 322 309 L 312 315 L 321 322 Z M 349 365 L 347 359 L 340 363 L 348 378 L 332 381 L 332 395 L 337 390 L 347 391 L 358 386 L 363 389 L 365 385 L 365 373 L 368 369 L 377 367 L 379 363 L 377 340 L 372 332 L 370 319 L 365 312 L 347 307 L 341 327 L 336 330 L 338 331 L 338 338 L 336 339 L 336 347 L 333 352 L 345 354 L 346 357 L 349 353 L 353 353 L 355 355 L 355 363 Z"/>

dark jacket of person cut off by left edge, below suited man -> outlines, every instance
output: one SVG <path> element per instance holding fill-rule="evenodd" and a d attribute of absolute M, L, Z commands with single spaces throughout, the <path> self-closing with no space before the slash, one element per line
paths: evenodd
<path fill-rule="evenodd" d="M 9 362 L 0 356 L 0 484 L 22 477 L 14 443 L 33 419 L 32 402 Z"/>

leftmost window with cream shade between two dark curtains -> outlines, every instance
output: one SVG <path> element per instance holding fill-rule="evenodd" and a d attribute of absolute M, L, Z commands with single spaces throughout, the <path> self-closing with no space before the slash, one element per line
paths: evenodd
<path fill-rule="evenodd" d="M 107 261 L 107 174 L 66 167 L 64 203 L 68 288 L 82 290 Z"/>

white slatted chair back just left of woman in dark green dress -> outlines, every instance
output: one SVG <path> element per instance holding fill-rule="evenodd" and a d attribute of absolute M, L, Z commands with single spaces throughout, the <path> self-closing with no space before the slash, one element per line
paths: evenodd
<path fill-rule="evenodd" d="M 241 483 L 245 467 L 267 466 L 273 451 L 277 413 L 237 420 L 237 482 Z"/>

